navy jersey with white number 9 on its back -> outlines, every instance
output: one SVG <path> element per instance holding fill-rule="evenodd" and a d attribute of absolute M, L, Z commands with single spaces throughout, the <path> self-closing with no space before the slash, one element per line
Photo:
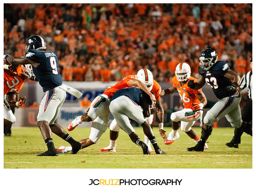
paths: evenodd
<path fill-rule="evenodd" d="M 37 67 L 33 67 L 33 72 L 44 92 L 62 84 L 59 61 L 55 52 L 30 49 L 26 52 L 26 58 L 39 63 Z"/>

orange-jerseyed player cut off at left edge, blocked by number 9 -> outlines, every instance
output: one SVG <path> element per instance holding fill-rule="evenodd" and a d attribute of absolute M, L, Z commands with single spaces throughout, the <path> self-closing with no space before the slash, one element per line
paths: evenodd
<path fill-rule="evenodd" d="M 4 129 L 16 121 L 11 107 L 22 106 L 26 101 L 26 97 L 19 97 L 19 101 L 16 101 L 16 95 L 22 89 L 26 78 L 33 76 L 31 68 L 29 64 L 18 66 L 4 64 L 4 95 L 7 94 L 7 99 L 4 99 Z"/>

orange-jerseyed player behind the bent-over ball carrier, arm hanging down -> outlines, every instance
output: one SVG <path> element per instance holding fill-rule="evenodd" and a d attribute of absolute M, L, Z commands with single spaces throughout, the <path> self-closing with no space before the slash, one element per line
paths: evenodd
<path fill-rule="evenodd" d="M 150 73 L 150 74 L 145 74 L 145 70 Z M 156 108 L 159 109 L 157 112 L 157 117 L 158 117 L 158 122 L 159 122 L 159 133 L 163 137 L 164 141 L 167 141 L 167 137 L 165 135 L 165 131 L 163 130 L 163 119 L 164 119 L 164 111 L 162 107 L 162 102 L 161 102 L 161 86 L 158 84 L 157 81 L 153 79 L 152 73 L 148 69 L 140 69 L 136 75 L 136 78 L 143 81 L 149 90 L 155 95 L 155 99 L 157 100 L 156 102 Z M 154 112 L 151 112 L 150 117 L 146 118 L 146 121 L 149 125 L 152 127 L 152 122 L 153 122 L 153 117 L 154 117 Z M 116 120 L 114 119 L 110 126 L 110 143 L 108 147 L 102 148 L 99 150 L 99 152 L 116 152 L 116 140 L 119 134 L 119 125 L 117 124 Z M 144 143 L 147 144 L 148 150 L 150 153 L 153 153 L 153 150 L 150 146 L 150 140 L 148 137 L 144 134 Z"/>

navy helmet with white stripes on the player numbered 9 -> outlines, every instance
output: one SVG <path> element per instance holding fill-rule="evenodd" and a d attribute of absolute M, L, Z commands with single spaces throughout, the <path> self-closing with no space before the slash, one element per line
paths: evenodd
<path fill-rule="evenodd" d="M 26 52 L 29 51 L 30 49 L 36 49 L 36 50 L 46 49 L 45 39 L 40 35 L 32 35 L 27 40 L 27 45 L 25 47 Z"/>

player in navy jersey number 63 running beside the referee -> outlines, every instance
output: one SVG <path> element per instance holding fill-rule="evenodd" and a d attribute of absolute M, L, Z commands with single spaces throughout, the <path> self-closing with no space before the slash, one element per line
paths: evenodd
<path fill-rule="evenodd" d="M 240 76 L 232 71 L 225 61 L 217 61 L 217 59 L 215 50 L 204 49 L 199 57 L 199 79 L 195 83 L 193 80 L 188 81 L 188 87 L 195 90 L 202 88 L 207 83 L 218 98 L 218 102 L 206 113 L 203 119 L 200 141 L 196 146 L 187 148 L 188 151 L 204 151 L 204 144 L 211 135 L 212 126 L 224 116 L 232 127 L 241 128 L 246 133 L 252 132 L 251 124 L 243 122 L 241 119 L 239 106 L 241 96 L 237 90 Z"/>

